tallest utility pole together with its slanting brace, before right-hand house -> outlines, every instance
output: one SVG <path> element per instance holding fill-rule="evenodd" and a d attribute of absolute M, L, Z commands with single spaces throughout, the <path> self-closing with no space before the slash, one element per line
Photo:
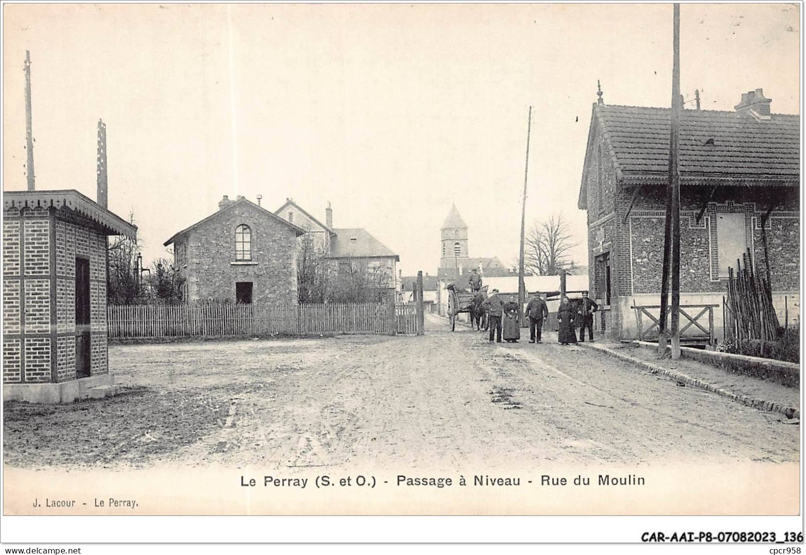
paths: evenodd
<path fill-rule="evenodd" d="M 669 274 L 672 275 L 672 317 L 671 334 L 672 350 L 677 346 L 679 357 L 679 304 L 680 304 L 680 230 L 679 230 L 679 142 L 680 142 L 680 5 L 674 6 L 674 33 L 672 39 L 671 70 L 671 132 L 669 138 L 669 180 L 666 197 L 666 219 L 663 229 L 663 275 L 661 276 L 660 320 L 658 335 L 658 354 L 666 354 L 670 330 L 667 328 L 667 312 L 669 300 Z M 676 251 L 675 251 L 676 245 Z M 670 268 L 671 267 L 671 268 Z M 671 272 L 670 272 L 671 270 Z M 676 284 L 676 289 L 675 289 Z M 676 299 L 676 304 L 675 304 Z M 674 352 L 672 353 L 674 356 Z"/>

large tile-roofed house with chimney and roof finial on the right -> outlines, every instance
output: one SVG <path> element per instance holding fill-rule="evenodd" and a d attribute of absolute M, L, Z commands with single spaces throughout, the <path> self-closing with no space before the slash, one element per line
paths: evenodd
<path fill-rule="evenodd" d="M 718 304 L 718 339 L 728 268 L 748 248 L 781 320 L 785 296 L 790 321 L 800 303 L 800 118 L 770 103 L 756 89 L 735 111 L 680 118 L 680 304 Z M 670 122 L 670 109 L 593 105 L 578 205 L 596 325 L 616 338 L 636 336 L 631 306 L 660 301 Z"/>

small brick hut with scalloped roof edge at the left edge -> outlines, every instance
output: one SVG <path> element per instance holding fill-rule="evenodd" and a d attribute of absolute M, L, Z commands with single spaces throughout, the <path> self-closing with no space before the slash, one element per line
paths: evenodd
<path fill-rule="evenodd" d="M 3 216 L 4 399 L 110 387 L 106 237 L 137 228 L 73 190 L 5 192 Z"/>

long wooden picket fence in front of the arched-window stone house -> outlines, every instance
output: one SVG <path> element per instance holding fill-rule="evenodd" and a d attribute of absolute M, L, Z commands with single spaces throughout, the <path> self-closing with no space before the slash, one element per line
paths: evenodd
<path fill-rule="evenodd" d="M 109 338 L 417 333 L 413 304 L 386 303 L 110 305 L 106 325 Z"/>

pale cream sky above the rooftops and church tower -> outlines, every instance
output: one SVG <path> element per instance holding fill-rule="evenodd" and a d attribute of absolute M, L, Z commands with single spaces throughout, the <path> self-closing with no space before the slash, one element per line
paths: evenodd
<path fill-rule="evenodd" d="M 405 275 L 436 271 L 455 202 L 470 254 L 513 263 L 531 105 L 527 222 L 565 213 L 586 263 L 596 79 L 609 104 L 671 101 L 671 4 L 4 8 L 3 188 L 26 187 L 29 49 L 36 187 L 95 198 L 103 118 L 110 209 L 134 211 L 149 260 L 222 195 L 261 193 L 322 220 L 330 201 Z M 687 100 L 733 110 L 763 88 L 799 113 L 798 6 L 683 4 L 680 40 Z"/>

